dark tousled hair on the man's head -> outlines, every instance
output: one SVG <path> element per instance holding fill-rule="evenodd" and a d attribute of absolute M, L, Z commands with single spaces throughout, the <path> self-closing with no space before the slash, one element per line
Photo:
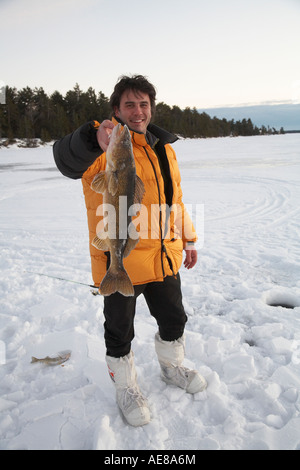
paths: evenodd
<path fill-rule="evenodd" d="M 126 90 L 132 90 L 133 92 L 140 91 L 142 93 L 146 93 L 150 99 L 152 116 L 154 116 L 156 90 L 152 83 L 150 83 L 147 78 L 143 75 L 133 75 L 132 77 L 123 75 L 122 77 L 119 77 L 119 81 L 116 84 L 109 100 L 109 104 L 112 109 L 112 114 L 114 114 L 115 107 L 120 107 L 121 96 Z"/>

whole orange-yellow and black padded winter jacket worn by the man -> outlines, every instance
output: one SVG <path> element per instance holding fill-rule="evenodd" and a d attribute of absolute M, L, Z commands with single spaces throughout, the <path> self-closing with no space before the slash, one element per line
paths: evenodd
<path fill-rule="evenodd" d="M 114 124 L 117 121 L 113 119 Z M 91 241 L 103 216 L 97 209 L 102 194 L 90 187 L 94 176 L 105 170 L 105 153 L 97 142 L 97 121 L 85 123 L 71 134 L 55 142 L 53 154 L 61 173 L 82 179 L 85 196 L 92 275 L 99 286 L 107 269 L 109 253 L 97 250 Z M 176 275 L 182 263 L 187 241 L 197 236 L 182 203 L 180 173 L 171 143 L 177 138 L 160 127 L 149 124 L 147 134 L 131 132 L 136 172 L 145 186 L 140 214 L 133 218 L 140 240 L 124 259 L 124 266 L 133 284 L 162 281 Z"/>

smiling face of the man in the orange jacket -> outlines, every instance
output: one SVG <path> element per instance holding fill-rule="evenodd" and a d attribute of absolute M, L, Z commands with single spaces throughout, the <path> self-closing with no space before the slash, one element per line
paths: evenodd
<path fill-rule="evenodd" d="M 119 108 L 115 108 L 115 116 L 135 132 L 146 134 L 151 120 L 151 103 L 146 93 L 126 90 L 120 99 Z"/>

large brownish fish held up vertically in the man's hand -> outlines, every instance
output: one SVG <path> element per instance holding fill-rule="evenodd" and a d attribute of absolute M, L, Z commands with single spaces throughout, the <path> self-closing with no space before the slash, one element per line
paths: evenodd
<path fill-rule="evenodd" d="M 98 250 L 110 252 L 110 265 L 99 292 L 103 296 L 115 292 L 125 297 L 133 296 L 133 284 L 123 259 L 139 242 L 139 235 L 132 223 L 135 213 L 131 208 L 139 210 L 145 187 L 136 174 L 131 135 L 126 125 L 119 123 L 114 127 L 106 150 L 105 171 L 94 177 L 91 188 L 103 194 L 103 210 L 107 209 L 108 214 L 104 230 L 97 232 L 92 240 L 92 245 Z"/>

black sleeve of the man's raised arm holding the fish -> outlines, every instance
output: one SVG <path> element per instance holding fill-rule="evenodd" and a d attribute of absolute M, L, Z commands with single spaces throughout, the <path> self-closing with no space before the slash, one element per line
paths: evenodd
<path fill-rule="evenodd" d="M 103 153 L 96 138 L 98 127 L 97 121 L 87 122 L 54 143 L 54 160 L 64 176 L 72 179 L 81 178 L 96 158 Z"/>

